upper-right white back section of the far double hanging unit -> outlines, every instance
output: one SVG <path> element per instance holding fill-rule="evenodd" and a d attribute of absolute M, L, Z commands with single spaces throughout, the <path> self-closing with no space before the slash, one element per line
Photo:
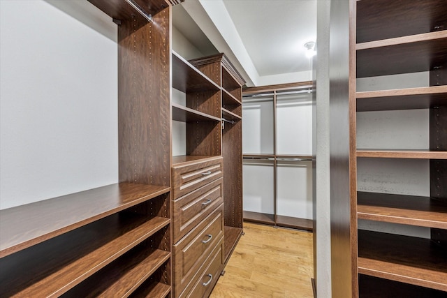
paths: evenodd
<path fill-rule="evenodd" d="M 277 154 L 312 155 L 312 94 L 277 95 Z"/>

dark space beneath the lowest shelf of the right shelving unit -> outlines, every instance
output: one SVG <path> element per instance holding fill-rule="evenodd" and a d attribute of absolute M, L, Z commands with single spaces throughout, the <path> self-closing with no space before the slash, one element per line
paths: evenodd
<path fill-rule="evenodd" d="M 446 292 L 359 274 L 360 298 L 445 298 Z"/>

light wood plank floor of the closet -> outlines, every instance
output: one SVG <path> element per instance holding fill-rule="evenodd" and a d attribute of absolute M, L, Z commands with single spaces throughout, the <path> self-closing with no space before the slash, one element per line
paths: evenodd
<path fill-rule="evenodd" d="M 312 233 L 244 223 L 210 298 L 313 298 Z"/>

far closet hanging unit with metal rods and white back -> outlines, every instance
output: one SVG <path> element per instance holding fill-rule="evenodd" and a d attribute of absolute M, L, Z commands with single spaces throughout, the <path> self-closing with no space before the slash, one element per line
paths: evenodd
<path fill-rule="evenodd" d="M 309 82 L 245 88 L 242 114 L 244 220 L 312 230 Z"/>

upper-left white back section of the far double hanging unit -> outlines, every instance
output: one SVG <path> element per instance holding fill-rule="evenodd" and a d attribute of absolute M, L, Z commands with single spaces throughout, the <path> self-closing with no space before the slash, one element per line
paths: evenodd
<path fill-rule="evenodd" d="M 242 152 L 274 154 L 273 97 L 244 98 L 242 106 Z"/>

